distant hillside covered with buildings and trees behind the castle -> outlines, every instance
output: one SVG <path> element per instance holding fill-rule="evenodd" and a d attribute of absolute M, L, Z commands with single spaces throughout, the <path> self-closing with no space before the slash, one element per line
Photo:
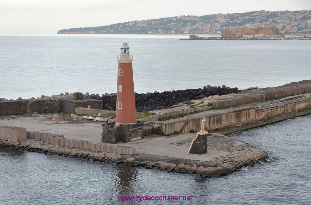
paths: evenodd
<path fill-rule="evenodd" d="M 311 33 L 311 10 L 174 16 L 63 29 L 58 34 L 221 34 L 226 29 L 258 27 L 276 27 L 280 34 Z"/>

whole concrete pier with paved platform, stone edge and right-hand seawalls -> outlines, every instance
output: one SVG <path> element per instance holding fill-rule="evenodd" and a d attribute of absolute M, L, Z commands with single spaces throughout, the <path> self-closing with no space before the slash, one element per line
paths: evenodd
<path fill-rule="evenodd" d="M 1 132 L 1 139 L 4 142 L 1 142 L 0 146 L 155 168 L 168 172 L 197 174 L 203 177 L 224 176 L 241 170 L 243 166 L 253 166 L 261 160 L 265 161 L 267 153 L 220 133 L 211 133 L 207 137 L 206 154 L 188 154 L 190 143 L 195 137 L 195 133 L 190 131 L 196 132 L 200 129 L 202 118 L 206 117 L 205 127 L 209 130 L 238 129 L 243 126 L 247 129 L 251 127 L 249 124 L 254 123 L 254 126 L 257 126 L 256 123 L 262 119 L 289 113 L 292 115 L 300 110 L 311 108 L 311 93 L 307 93 L 311 91 L 309 88 L 311 88 L 310 82 L 271 89 L 253 89 L 240 94 L 195 100 L 192 102 L 194 107 L 184 104 L 182 107 L 170 110 L 155 111 L 157 114 L 151 116 L 152 119 L 156 119 L 156 116 L 162 112 L 166 113 L 165 115 L 179 111 L 189 113 L 200 110 L 201 112 L 174 120 L 145 122 L 143 131 L 149 133 L 149 136 L 145 135 L 143 139 L 118 144 L 101 142 L 103 122 L 72 120 L 59 116 L 59 123 L 55 124 L 52 122 L 52 114 L 40 114 L 36 117 L 7 117 L 8 120 L 0 120 L 0 127 L 26 128 L 29 132 L 28 139 L 19 145 L 8 141 L 8 138 L 4 139 Z M 291 93 L 294 96 L 291 96 Z M 235 107 L 208 111 L 202 109 L 210 108 L 209 106 L 198 107 L 208 103 L 212 107 L 223 105 Z M 308 113 L 311 111 L 304 112 L 304 114 Z M 169 135 L 180 130 L 182 130 L 180 134 L 170 136 L 152 134 Z M 53 133 L 53 137 L 48 136 L 47 132 Z M 135 149 L 129 149 L 130 147 Z"/>

